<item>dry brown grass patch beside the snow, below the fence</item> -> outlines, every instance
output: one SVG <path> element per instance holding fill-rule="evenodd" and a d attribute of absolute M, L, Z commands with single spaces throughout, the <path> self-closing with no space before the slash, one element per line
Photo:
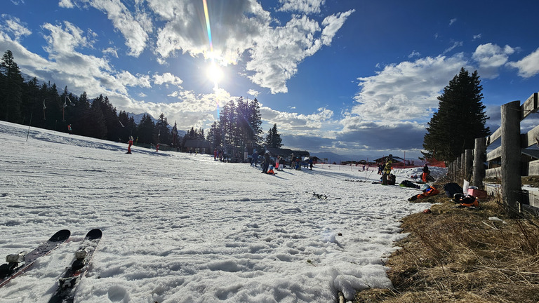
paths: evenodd
<path fill-rule="evenodd" d="M 361 291 L 354 302 L 539 302 L 539 220 L 509 219 L 494 198 L 479 210 L 430 199 L 441 203 L 432 213 L 402 220 L 410 236 L 386 264 L 394 289 Z"/>

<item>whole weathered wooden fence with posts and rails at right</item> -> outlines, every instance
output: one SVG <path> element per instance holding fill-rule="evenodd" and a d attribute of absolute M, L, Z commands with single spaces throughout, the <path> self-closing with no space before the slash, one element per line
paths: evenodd
<path fill-rule="evenodd" d="M 467 149 L 448 164 L 448 174 L 455 179 L 471 180 L 472 185 L 486 189 L 488 194 L 500 194 L 513 215 L 522 209 L 539 214 L 539 191 L 523 191 L 521 182 L 523 176 L 539 176 L 539 160 L 536 160 L 539 151 L 526 151 L 535 144 L 539 147 L 539 126 L 524 134 L 520 128 L 521 121 L 538 109 L 538 93 L 533 93 L 522 105 L 520 101 L 502 105 L 500 128 L 488 137 L 477 138 L 473 151 Z M 498 140 L 500 146 L 486 153 L 487 147 Z M 499 180 L 499 186 L 486 187 L 484 178 Z"/>

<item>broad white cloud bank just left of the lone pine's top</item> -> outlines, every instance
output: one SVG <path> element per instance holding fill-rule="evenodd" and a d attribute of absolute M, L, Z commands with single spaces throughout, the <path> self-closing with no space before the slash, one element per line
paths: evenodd
<path fill-rule="evenodd" d="M 462 54 L 420 58 L 387 65 L 375 76 L 361 77 L 350 114 L 366 121 L 423 121 L 437 108 L 437 96 L 467 65 Z"/>

